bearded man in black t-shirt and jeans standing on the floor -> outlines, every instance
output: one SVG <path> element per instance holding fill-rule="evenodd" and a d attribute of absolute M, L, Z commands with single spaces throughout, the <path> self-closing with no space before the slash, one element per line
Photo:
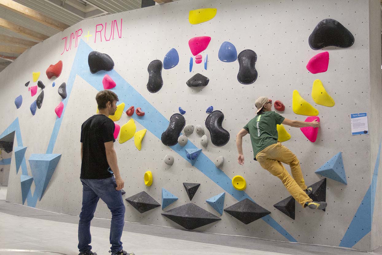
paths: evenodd
<path fill-rule="evenodd" d="M 121 195 L 124 182 L 117 164 L 113 143 L 115 125 L 109 115 L 117 110 L 118 96 L 110 90 L 97 93 L 99 113 L 81 126 L 82 209 L 78 224 L 79 255 L 97 255 L 91 251 L 90 222 L 101 198 L 112 212 L 109 252 L 112 255 L 134 255 L 122 249 L 121 235 L 125 224 L 125 204 Z"/>

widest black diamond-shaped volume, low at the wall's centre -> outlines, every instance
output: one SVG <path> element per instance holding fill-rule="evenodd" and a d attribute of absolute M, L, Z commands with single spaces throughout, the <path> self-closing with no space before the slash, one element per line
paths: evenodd
<path fill-rule="evenodd" d="M 196 229 L 221 219 L 204 210 L 194 203 L 184 204 L 169 211 L 163 212 L 163 216 L 176 222 L 185 229 Z"/>

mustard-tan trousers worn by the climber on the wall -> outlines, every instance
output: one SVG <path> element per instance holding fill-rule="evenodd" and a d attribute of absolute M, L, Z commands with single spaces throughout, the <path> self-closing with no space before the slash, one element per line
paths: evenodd
<path fill-rule="evenodd" d="M 257 153 L 256 159 L 262 168 L 268 170 L 272 175 L 278 177 L 283 182 L 290 195 L 292 195 L 301 206 L 304 207 L 306 202 L 312 201 L 305 193 L 307 187 L 303 173 L 301 172 L 300 162 L 296 155 L 288 148 L 283 146 L 280 142 L 277 142 Z M 288 171 L 286 171 L 282 163 L 290 165 L 293 178 Z"/>

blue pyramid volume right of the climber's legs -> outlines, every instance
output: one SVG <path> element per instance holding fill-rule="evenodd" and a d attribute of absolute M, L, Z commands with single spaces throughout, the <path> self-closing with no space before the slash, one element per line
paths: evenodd
<path fill-rule="evenodd" d="M 322 165 L 322 167 L 318 168 L 315 173 L 339 181 L 340 183 L 348 184 L 346 181 L 345 169 L 343 168 L 341 152 L 338 152 L 332 159 Z"/>

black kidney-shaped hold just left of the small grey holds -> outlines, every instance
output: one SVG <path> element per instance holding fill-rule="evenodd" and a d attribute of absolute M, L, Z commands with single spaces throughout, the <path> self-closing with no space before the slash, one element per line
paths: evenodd
<path fill-rule="evenodd" d="M 178 143 L 178 137 L 183 127 L 186 125 L 186 119 L 182 114 L 175 113 L 172 114 L 170 118 L 170 123 L 168 123 L 168 127 L 166 131 L 162 133 L 160 139 L 162 143 L 167 146 L 172 146 Z"/>

